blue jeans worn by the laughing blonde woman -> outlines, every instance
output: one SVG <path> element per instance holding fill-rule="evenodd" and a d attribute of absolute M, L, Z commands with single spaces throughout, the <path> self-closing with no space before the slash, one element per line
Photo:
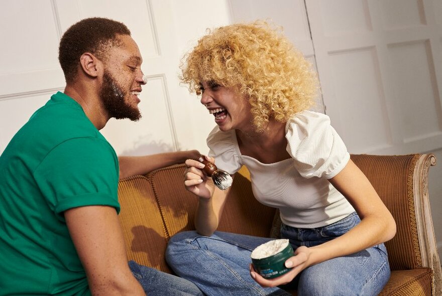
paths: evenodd
<path fill-rule="evenodd" d="M 356 213 L 328 226 L 313 229 L 281 227 L 281 237 L 293 249 L 332 240 L 360 222 Z M 250 254 L 271 238 L 216 231 L 201 236 L 177 233 L 166 249 L 166 260 L 181 277 L 194 282 L 207 295 L 290 295 L 281 287 L 264 288 L 249 273 Z M 390 277 L 384 244 L 305 268 L 290 283 L 298 295 L 377 295 Z"/>

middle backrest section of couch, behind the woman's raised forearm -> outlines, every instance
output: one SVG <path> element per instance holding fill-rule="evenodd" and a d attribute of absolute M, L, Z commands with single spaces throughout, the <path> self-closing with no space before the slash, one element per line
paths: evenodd
<path fill-rule="evenodd" d="M 184 187 L 184 170 L 184 165 L 178 165 L 149 175 L 168 237 L 180 231 L 195 229 L 193 219 L 197 197 Z M 255 236 L 269 235 L 275 209 L 256 201 L 247 179 L 247 171 L 235 175 L 228 199 L 217 230 Z"/>

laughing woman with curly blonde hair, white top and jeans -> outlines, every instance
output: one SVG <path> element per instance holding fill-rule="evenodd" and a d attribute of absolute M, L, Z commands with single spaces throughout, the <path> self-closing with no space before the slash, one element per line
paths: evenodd
<path fill-rule="evenodd" d="M 287 283 L 298 295 L 378 294 L 390 276 L 383 242 L 396 225 L 328 116 L 307 110 L 317 79 L 302 54 L 266 23 L 236 24 L 202 37 L 182 71 L 215 117 L 207 159 L 231 175 L 249 169 L 256 199 L 279 208 L 295 255 L 288 273 L 260 276 L 250 254 L 270 238 L 215 232 L 229 190 L 187 160 L 196 232 L 170 240 L 174 271 L 208 295 L 287 294 L 278 287 Z"/>

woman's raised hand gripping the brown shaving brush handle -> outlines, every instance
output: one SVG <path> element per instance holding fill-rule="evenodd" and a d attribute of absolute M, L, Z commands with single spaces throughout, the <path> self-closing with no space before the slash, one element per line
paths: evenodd
<path fill-rule="evenodd" d="M 215 159 L 205 157 L 211 163 Z M 184 171 L 184 185 L 188 191 L 201 198 L 209 199 L 213 196 L 214 184 L 211 178 L 208 178 L 201 170 L 204 165 L 195 160 L 186 160 L 186 170 Z"/>

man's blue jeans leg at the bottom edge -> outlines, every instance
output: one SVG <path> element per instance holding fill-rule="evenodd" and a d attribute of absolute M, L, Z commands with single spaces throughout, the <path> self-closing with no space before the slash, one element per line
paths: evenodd
<path fill-rule="evenodd" d="M 132 274 L 143 286 L 146 295 L 149 296 L 203 296 L 198 287 L 184 279 L 155 268 L 140 265 L 135 261 L 129 261 Z"/>

